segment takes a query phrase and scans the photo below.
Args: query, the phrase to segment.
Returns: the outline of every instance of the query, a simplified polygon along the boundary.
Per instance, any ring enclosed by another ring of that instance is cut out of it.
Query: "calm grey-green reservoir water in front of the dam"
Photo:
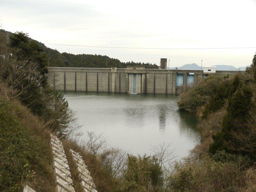
[[[133,155],[150,153],[150,144],[171,143],[178,159],[200,143],[194,114],[180,111],[177,95],[62,92],[76,112],[80,132],[103,133],[108,144]]]

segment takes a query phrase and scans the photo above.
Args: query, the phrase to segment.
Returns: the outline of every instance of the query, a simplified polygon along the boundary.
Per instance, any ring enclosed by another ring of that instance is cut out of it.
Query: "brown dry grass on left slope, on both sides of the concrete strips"
[[[1,89],[0,85],[0,98],[4,98],[4,93],[1,90],[3,89]],[[12,100],[10,106],[12,109],[10,115],[15,116],[18,119],[19,124],[28,129],[32,135],[36,136],[36,142],[40,143],[40,148],[38,148],[39,155],[35,157],[35,162],[32,162],[32,164],[34,163],[33,168],[30,170],[35,172],[33,177],[29,177],[17,184],[19,186],[28,184],[37,192],[55,191],[56,183],[52,166],[52,148],[49,135],[49,132],[52,131],[50,130],[50,127],[48,127],[48,123],[44,122],[42,118],[33,115],[32,112],[26,106],[23,106],[18,99]],[[83,188],[80,186],[81,179],[76,170],[76,163],[69,153],[70,148],[76,152],[81,152],[85,164],[88,165],[88,169],[91,171],[92,178],[99,192],[116,191],[115,180],[110,175],[108,169],[102,164],[102,161],[98,156],[85,150],[85,146],[82,144],[79,145],[78,141],[63,138],[62,142],[68,158],[74,188],[77,192],[82,192]]]

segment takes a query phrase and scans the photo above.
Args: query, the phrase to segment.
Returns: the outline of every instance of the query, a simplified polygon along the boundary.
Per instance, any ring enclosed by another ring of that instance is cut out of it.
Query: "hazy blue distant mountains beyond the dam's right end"
[[[250,67],[250,65],[240,68],[236,68],[232,65],[212,65],[211,67],[216,67],[217,71],[245,71],[246,67]],[[181,70],[201,70],[201,66],[198,66],[196,63],[186,64],[180,67],[170,67],[170,69],[176,68]]]

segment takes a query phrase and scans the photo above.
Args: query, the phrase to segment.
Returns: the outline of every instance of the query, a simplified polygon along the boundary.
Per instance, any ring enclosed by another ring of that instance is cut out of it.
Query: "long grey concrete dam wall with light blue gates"
[[[50,84],[58,91],[180,94],[210,74],[234,75],[241,71],[127,68],[49,68]]]

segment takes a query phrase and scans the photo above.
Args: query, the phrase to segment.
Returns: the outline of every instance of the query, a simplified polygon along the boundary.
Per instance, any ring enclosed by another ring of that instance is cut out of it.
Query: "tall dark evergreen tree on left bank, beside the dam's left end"
[[[23,32],[17,32],[13,36],[10,36],[9,47],[14,51],[14,57],[17,60],[17,65],[13,66],[20,68],[30,66],[29,73],[33,74],[33,78],[37,80],[36,84],[29,85],[26,92],[20,95],[20,99],[24,105],[31,110],[41,115],[43,113],[44,101],[41,88],[47,87],[47,59],[44,49],[40,47],[36,41],[28,38],[28,34]],[[23,79],[22,85],[29,84],[29,79]],[[22,91],[23,87],[17,87],[17,90]]]

